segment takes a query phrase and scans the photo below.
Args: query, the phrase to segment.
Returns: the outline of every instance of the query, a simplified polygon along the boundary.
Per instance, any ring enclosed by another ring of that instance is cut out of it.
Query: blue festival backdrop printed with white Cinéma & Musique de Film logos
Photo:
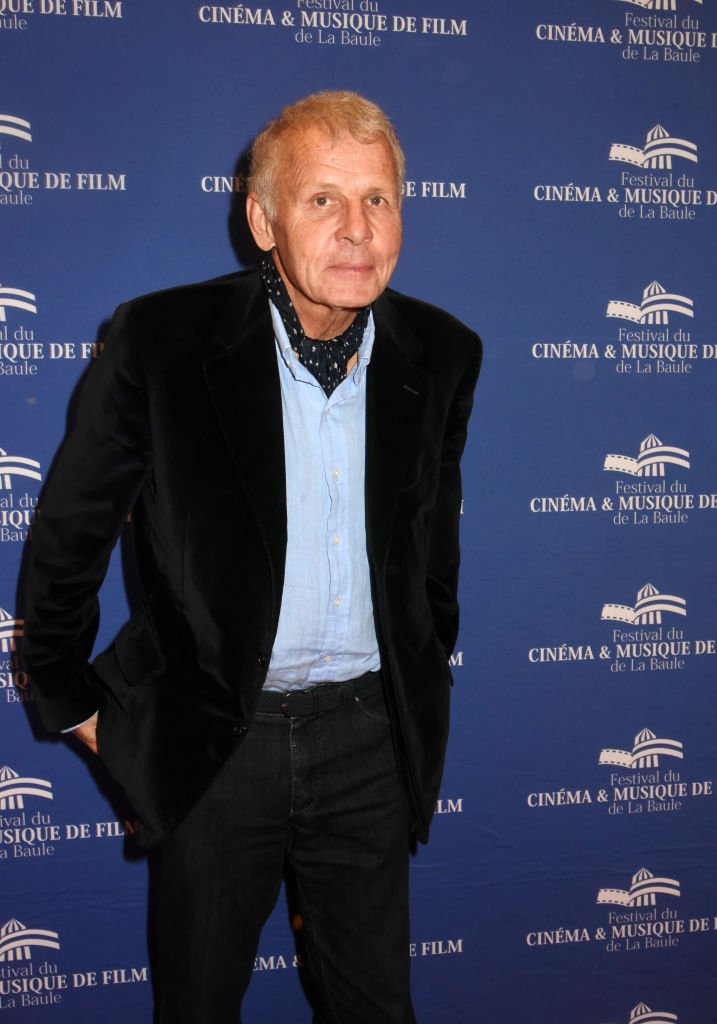
[[[151,1020],[131,808],[22,662],[67,418],[119,302],[252,265],[266,120],[350,88],[394,286],[486,342],[418,1018],[715,1020],[716,86],[717,0],[0,0],[0,1018]],[[98,650],[135,600],[127,537]],[[297,948],[282,897],[247,1021],[310,1020]]]

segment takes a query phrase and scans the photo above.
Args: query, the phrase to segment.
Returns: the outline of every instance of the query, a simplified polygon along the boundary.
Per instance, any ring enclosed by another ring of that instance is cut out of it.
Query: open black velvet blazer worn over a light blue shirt
[[[456,641],[459,460],[475,334],[390,290],[374,304],[366,525],[376,631],[415,834],[427,838]],[[119,308],[33,529],[25,660],[44,723],[100,709],[99,751],[157,842],[251,727],[286,554],[279,371],[258,274]],[[131,510],[141,607],[88,664]]]

